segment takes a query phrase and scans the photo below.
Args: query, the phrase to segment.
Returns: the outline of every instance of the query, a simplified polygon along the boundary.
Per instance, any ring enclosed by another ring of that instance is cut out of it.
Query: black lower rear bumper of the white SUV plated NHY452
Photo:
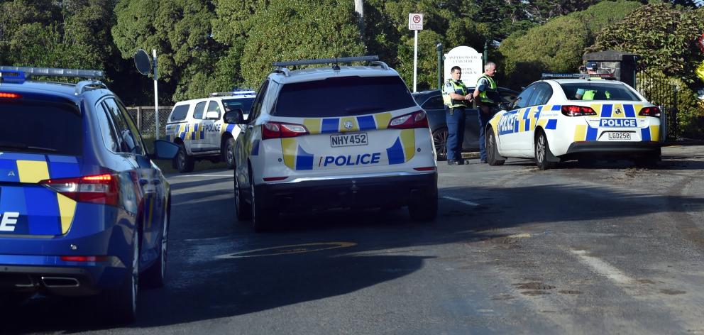
[[[256,201],[283,212],[338,207],[404,206],[412,197],[437,194],[437,172],[306,180],[256,185]]]

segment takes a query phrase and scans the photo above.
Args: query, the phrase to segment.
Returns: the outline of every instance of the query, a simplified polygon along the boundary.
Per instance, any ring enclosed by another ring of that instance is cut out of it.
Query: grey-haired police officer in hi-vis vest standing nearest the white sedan
[[[477,80],[477,87],[474,89],[474,97],[479,113],[479,158],[481,163],[486,163],[486,141],[484,138],[484,128],[497,109],[500,101],[499,91],[494,80],[496,64],[487,62],[484,65],[484,74]]]

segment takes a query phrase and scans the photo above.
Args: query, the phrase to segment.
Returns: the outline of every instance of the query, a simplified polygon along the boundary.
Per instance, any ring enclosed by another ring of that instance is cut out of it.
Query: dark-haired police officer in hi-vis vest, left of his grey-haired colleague
[[[462,143],[464,141],[464,113],[473,100],[460,78],[462,69],[453,66],[450,70],[451,79],[445,82],[442,99],[445,103],[445,119],[447,123],[447,164],[462,165]]]

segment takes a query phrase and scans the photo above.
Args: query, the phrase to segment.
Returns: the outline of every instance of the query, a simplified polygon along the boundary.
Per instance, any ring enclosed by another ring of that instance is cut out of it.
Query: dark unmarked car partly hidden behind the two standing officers
[[[474,92],[474,87],[468,87],[470,92]],[[512,102],[518,96],[518,92],[499,87],[501,102]],[[442,101],[442,94],[439,89],[431,91],[413,93],[413,98],[428,114],[430,130],[433,132],[433,142],[438,153],[439,160],[447,158],[447,125],[445,121],[445,106]],[[466,113],[463,151],[479,150],[479,121],[476,109],[468,109]]]

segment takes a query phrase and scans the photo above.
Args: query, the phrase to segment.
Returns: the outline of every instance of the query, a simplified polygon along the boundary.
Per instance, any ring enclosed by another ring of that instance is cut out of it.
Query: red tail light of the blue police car
[[[120,199],[120,186],[117,175],[90,175],[50,179],[43,180],[40,184],[77,202],[117,206]]]

